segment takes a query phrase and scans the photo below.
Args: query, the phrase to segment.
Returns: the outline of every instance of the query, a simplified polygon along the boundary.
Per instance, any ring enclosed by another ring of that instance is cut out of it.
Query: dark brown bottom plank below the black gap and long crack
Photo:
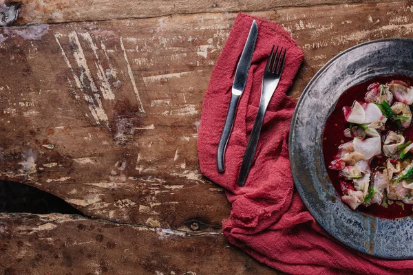
[[[282,274],[222,234],[56,214],[0,214],[0,233],[0,274]]]

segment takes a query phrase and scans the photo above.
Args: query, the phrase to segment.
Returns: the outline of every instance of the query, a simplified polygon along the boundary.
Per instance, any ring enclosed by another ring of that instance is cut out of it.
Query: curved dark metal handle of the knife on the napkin
[[[238,100],[240,100],[239,95],[231,94],[231,103],[229,104],[224,129],[222,130],[220,143],[218,144],[217,166],[220,173],[225,171],[225,148],[233,128],[235,114],[237,113]]]

